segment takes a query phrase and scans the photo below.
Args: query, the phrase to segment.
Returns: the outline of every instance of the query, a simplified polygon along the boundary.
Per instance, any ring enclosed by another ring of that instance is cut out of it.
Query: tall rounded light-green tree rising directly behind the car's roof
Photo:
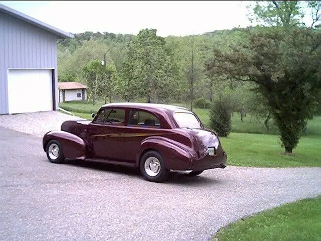
[[[134,38],[131,47],[133,80],[139,95],[148,103],[170,96],[176,70],[172,55],[165,48],[165,39],[157,36],[155,29],[144,29]]]

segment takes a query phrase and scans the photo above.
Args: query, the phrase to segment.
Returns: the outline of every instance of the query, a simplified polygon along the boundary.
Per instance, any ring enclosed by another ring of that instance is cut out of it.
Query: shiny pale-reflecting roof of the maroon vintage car
[[[155,103],[134,103],[134,102],[115,102],[104,104],[102,107],[127,107],[127,108],[142,108],[142,109],[163,109],[170,110],[172,112],[182,111],[192,113],[188,108],[170,105],[170,104],[155,104]]]

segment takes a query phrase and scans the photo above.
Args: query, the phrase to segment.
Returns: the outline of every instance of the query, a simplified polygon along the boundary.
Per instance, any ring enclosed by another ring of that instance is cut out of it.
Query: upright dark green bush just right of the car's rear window
[[[231,132],[231,106],[228,101],[213,101],[210,109],[210,127],[219,137],[227,137]]]

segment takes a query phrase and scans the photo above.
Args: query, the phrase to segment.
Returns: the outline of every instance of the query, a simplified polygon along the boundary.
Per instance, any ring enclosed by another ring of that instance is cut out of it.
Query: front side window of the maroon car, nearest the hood
[[[124,109],[103,109],[97,115],[95,123],[105,124],[123,124],[125,121],[125,110]]]

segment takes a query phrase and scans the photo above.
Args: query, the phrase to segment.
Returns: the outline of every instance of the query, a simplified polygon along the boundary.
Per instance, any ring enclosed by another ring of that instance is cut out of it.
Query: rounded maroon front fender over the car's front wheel
[[[64,131],[48,132],[43,137],[44,151],[46,151],[46,146],[51,140],[56,140],[60,143],[65,158],[85,159],[87,145],[80,137]]]

